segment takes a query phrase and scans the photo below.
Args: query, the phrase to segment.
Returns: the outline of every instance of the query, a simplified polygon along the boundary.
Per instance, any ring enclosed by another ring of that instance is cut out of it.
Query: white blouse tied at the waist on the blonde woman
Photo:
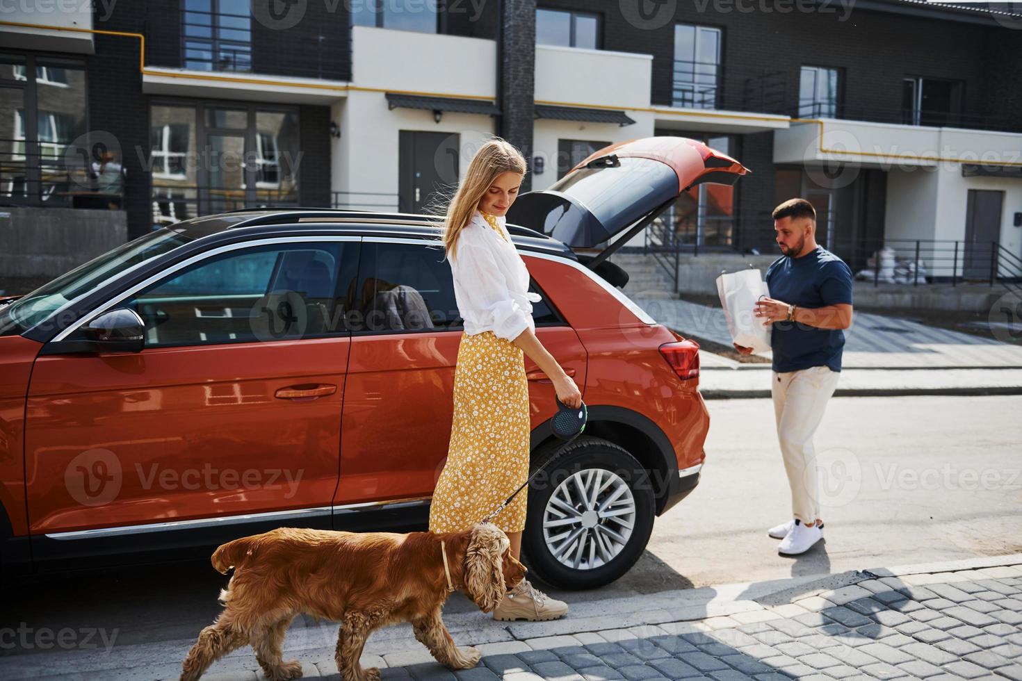
[[[454,297],[466,334],[493,331],[514,340],[525,329],[536,332],[532,303],[543,297],[528,291],[528,270],[511,242],[505,218],[498,215],[497,224],[503,238],[476,210],[458,235],[455,256],[449,258]]]

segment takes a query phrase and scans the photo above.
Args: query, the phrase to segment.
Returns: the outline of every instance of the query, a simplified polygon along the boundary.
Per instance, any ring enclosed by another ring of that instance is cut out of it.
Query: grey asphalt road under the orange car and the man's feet
[[[715,400],[702,482],[657,520],[633,571],[603,589],[549,593],[578,602],[1022,551],[1020,414],[1020,397],[832,400],[817,440],[826,542],[790,558],[765,535],[789,517],[772,404]],[[200,562],[5,585],[0,632],[94,629],[118,646],[193,639],[225,581]],[[459,594],[447,607],[472,609]],[[41,649],[0,637],[0,656]]]

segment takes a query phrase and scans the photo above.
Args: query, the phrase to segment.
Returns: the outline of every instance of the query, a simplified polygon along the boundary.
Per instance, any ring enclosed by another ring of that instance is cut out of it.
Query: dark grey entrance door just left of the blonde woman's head
[[[403,130],[399,139],[399,208],[442,212],[458,184],[458,133]]]

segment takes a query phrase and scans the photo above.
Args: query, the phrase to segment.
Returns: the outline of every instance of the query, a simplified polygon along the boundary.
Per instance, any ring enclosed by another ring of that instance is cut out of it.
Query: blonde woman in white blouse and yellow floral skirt
[[[525,159],[502,139],[483,144],[468,164],[444,223],[455,300],[465,321],[454,379],[454,419],[447,464],[429,510],[433,532],[465,530],[496,510],[528,478],[529,409],[524,354],[553,380],[558,398],[582,393],[536,337],[528,271],[504,215],[525,177]],[[528,488],[494,519],[511,553],[521,552]],[[496,620],[552,620],[568,606],[522,580],[494,611]]]

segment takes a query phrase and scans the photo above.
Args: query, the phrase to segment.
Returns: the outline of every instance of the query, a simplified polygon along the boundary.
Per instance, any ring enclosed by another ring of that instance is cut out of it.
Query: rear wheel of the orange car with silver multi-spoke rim
[[[648,471],[625,449],[598,438],[555,447],[546,460],[528,490],[522,535],[528,568],[562,588],[614,581],[639,560],[653,529]]]

